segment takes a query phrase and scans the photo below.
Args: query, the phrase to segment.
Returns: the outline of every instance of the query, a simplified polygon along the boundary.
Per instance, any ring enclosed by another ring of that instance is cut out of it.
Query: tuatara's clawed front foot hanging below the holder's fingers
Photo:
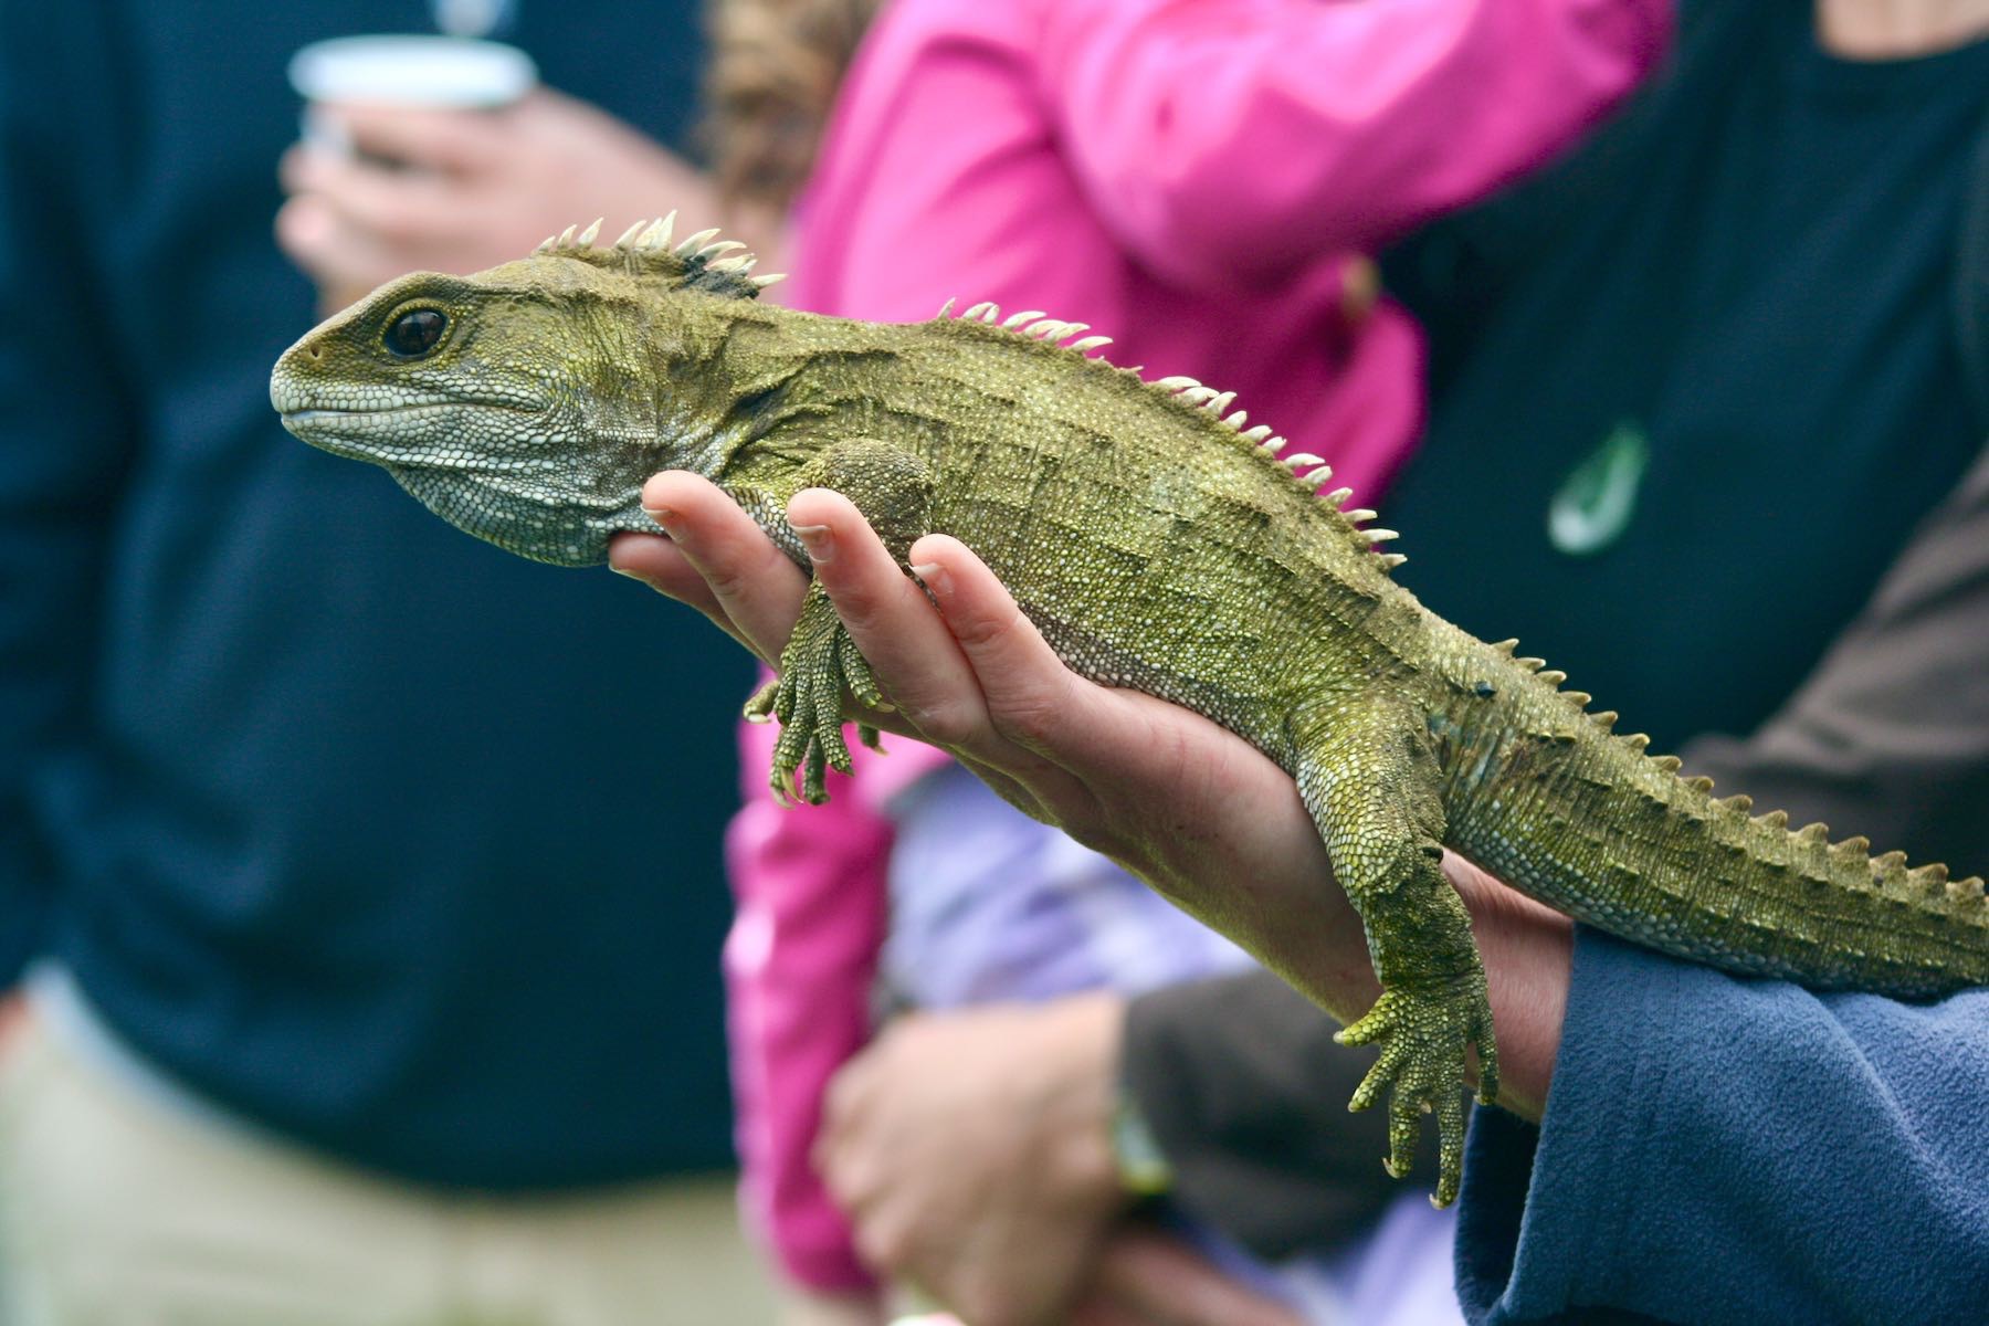
[[[808,586],[802,618],[780,652],[780,676],[746,702],[746,720],[780,720],[774,769],[768,785],[782,805],[794,805],[794,773],[802,771],[802,799],[821,805],[829,799],[827,771],[849,773],[849,744],[843,742],[843,696],[865,708],[883,708],[883,692],[869,662],[857,652],[835,616],[835,606],[819,582]],[[859,724],[857,738],[883,749],[877,730]]]

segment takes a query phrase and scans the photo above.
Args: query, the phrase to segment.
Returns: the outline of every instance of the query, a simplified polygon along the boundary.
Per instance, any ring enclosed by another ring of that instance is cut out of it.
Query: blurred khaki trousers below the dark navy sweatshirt
[[[438,1197],[0,1044],[0,1326],[752,1326],[730,1185]]]

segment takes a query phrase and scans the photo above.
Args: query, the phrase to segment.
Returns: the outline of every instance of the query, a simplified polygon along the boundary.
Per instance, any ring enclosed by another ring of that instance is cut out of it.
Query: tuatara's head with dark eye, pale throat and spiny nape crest
[[[696,356],[696,304],[768,278],[710,233],[672,249],[668,219],[605,249],[597,227],[473,276],[400,276],[326,318],[271,372],[282,425],[535,561],[591,567],[617,531],[654,533],[640,483],[690,463],[712,417],[684,396],[696,374],[658,368]]]

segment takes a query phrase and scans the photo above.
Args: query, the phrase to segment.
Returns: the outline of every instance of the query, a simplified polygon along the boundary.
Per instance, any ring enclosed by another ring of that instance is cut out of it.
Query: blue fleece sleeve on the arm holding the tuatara
[[[1458,1292],[1498,1324],[1979,1326],[1989,990],[1812,994],[1577,928],[1543,1123],[1472,1125]]]

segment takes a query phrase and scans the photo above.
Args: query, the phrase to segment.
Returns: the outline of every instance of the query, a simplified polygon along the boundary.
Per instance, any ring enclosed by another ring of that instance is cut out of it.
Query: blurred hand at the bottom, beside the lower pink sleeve
[[[1062,1320],[1128,1205],[1124,1002],[909,1014],[829,1083],[815,1169],[857,1252],[975,1326]]]

